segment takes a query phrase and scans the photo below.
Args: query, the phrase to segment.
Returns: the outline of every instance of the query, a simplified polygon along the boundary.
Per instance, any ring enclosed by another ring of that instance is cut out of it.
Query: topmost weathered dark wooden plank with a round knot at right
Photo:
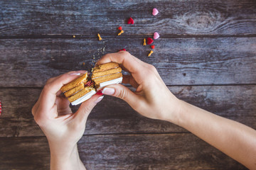
[[[256,2],[245,1],[1,1],[0,35],[255,35]],[[158,16],[152,16],[152,8]],[[135,24],[128,26],[132,16]],[[71,37],[71,36],[70,36]]]

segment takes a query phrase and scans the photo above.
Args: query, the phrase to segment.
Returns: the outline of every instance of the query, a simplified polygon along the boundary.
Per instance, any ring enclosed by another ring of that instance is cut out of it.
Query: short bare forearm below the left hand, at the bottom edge
[[[58,148],[50,145],[50,169],[51,170],[85,170],[85,166],[82,164],[78,147],[63,147]]]

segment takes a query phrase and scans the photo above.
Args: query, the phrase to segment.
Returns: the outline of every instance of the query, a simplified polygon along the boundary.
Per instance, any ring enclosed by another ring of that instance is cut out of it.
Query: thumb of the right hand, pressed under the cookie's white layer
[[[122,84],[109,85],[102,90],[102,94],[121,98],[126,101],[129,106],[132,106],[132,108],[135,108],[139,102],[139,96]]]

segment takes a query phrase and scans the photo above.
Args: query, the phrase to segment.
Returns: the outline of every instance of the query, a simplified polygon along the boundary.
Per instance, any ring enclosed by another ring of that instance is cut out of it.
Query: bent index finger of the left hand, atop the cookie
[[[85,73],[85,71],[83,71],[83,73]],[[45,108],[49,109],[52,107],[55,103],[56,95],[58,91],[60,91],[60,88],[64,84],[68,84],[70,81],[78,78],[80,74],[81,72],[69,72],[49,79],[40,96],[41,103],[45,106]]]

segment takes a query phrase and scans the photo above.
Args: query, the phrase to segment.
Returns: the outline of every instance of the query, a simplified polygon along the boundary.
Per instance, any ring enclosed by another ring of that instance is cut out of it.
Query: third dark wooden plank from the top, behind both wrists
[[[256,86],[171,86],[178,97],[256,129]],[[0,137],[43,136],[31,108],[41,89],[0,89]],[[75,112],[78,107],[73,107]],[[172,123],[144,118],[124,101],[105,96],[90,113],[85,135],[186,132]]]

